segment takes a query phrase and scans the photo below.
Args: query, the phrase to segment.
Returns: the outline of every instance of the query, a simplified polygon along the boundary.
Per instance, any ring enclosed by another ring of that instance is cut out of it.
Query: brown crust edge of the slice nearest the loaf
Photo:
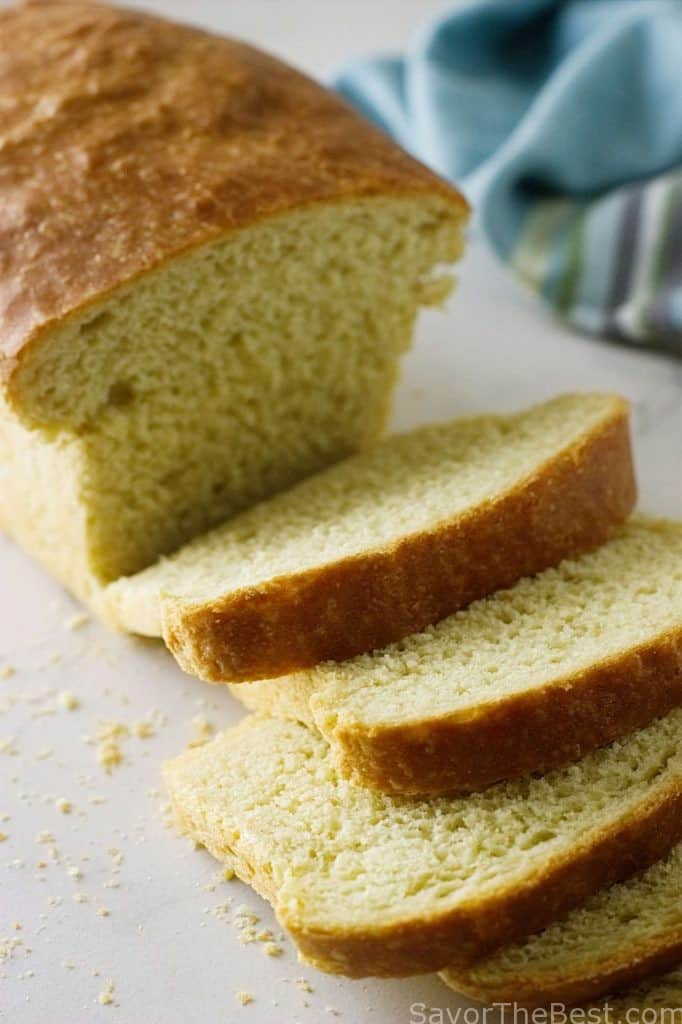
[[[608,540],[636,485],[628,409],[514,489],[384,550],[165,609],[164,639],[209,682],[275,678],[385,646]]]

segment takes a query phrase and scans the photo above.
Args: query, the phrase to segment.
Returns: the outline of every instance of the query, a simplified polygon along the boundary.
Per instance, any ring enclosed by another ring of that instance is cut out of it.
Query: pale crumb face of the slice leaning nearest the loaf
[[[164,610],[177,623],[225,595],[390,549],[474,514],[623,411],[611,395],[561,395],[513,416],[389,437],[113,584],[103,599],[119,626],[159,636]]]

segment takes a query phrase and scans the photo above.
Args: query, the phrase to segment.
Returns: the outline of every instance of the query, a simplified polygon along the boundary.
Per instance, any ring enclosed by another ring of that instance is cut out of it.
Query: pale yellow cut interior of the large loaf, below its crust
[[[27,476],[40,447],[68,478],[63,528],[82,557],[70,568],[39,550],[73,516],[58,488],[32,524],[0,493],[0,521],[91,596],[361,449],[386,421],[419,306],[449,290],[433,271],[459,255],[460,218],[437,197],[316,205],[204,246],[41,337],[7,401]]]

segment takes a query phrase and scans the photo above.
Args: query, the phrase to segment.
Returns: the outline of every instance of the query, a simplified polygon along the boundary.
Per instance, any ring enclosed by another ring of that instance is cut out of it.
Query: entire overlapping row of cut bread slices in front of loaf
[[[682,963],[682,523],[627,518],[624,436],[425,428],[112,587],[255,712],[166,781],[308,963],[526,1007]]]

